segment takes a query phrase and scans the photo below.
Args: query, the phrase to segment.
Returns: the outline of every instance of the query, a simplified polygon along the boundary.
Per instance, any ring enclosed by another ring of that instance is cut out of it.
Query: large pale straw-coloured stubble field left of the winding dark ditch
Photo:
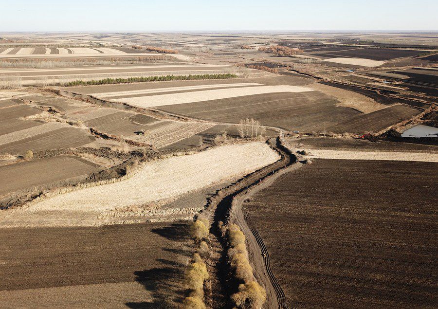
[[[116,207],[144,206],[240,178],[278,154],[264,143],[225,145],[193,155],[147,163],[127,180],[89,187],[0,213],[0,226],[100,225],[98,217]]]

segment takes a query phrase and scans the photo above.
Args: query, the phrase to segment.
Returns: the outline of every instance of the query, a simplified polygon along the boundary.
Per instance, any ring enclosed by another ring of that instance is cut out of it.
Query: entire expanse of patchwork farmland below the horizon
[[[436,307],[437,50],[1,33],[0,307]]]

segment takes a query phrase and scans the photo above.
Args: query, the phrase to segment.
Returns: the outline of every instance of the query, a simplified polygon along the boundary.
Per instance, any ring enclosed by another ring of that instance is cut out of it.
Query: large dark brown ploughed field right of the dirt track
[[[434,307],[438,164],[316,160],[246,201],[292,307]]]

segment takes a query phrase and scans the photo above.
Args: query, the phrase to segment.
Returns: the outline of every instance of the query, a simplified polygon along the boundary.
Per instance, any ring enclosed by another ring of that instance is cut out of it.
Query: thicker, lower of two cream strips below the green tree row
[[[234,89],[215,89],[205,91],[193,91],[184,93],[159,94],[147,97],[121,98],[118,102],[128,103],[133,106],[147,108],[152,106],[175,105],[183,103],[201,102],[209,100],[218,100],[226,98],[234,98],[246,95],[255,95],[262,93],[275,92],[305,92],[313,91],[307,87],[299,86],[255,86]]]

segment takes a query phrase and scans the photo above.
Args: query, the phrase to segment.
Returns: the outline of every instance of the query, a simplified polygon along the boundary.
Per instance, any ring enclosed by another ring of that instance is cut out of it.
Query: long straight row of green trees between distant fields
[[[227,79],[236,78],[236,74],[189,74],[189,75],[163,75],[163,76],[140,76],[128,78],[105,78],[99,80],[75,80],[67,82],[64,86],[89,86],[89,85],[106,85],[106,84],[127,84],[127,83],[143,83],[143,82],[161,82],[169,80],[196,80],[196,79]]]

